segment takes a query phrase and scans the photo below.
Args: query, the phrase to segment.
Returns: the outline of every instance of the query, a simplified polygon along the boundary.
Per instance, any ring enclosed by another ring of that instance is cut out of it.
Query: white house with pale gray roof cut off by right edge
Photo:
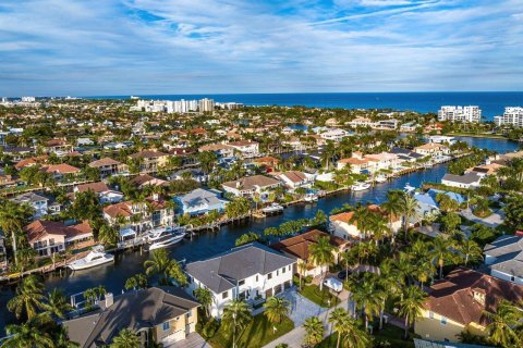
[[[523,285],[523,237],[500,236],[485,246],[484,254],[491,276]]]

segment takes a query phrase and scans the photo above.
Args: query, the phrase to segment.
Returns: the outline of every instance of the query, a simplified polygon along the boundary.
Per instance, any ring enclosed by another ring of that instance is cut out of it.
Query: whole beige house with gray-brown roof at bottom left
[[[80,348],[107,347],[123,328],[142,348],[177,345],[196,331],[199,303],[174,286],[155,286],[113,297],[106,294],[95,311],[66,320],[69,338]]]

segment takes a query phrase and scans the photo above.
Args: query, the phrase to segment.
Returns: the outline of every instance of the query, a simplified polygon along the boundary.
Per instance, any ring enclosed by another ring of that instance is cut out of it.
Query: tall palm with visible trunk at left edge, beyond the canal
[[[2,209],[0,209],[0,227],[4,233],[11,235],[15,265],[19,264],[16,246],[20,232],[31,216],[33,216],[33,209],[28,204],[17,204],[10,200],[2,202]]]

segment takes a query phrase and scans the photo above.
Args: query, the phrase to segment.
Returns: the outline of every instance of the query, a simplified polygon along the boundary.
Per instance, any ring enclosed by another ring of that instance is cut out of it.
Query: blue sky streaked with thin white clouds
[[[0,96],[523,90],[522,0],[3,0]]]

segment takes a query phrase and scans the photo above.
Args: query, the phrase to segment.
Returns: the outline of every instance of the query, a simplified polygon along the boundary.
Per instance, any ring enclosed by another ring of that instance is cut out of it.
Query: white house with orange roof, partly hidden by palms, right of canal
[[[392,233],[398,233],[402,226],[402,221],[399,216],[389,216],[382,211],[379,206],[370,204],[367,208],[372,213],[381,214],[387,219],[387,225]],[[357,227],[357,222],[353,219],[354,212],[343,212],[329,216],[330,226],[329,231],[332,235],[342,239],[365,239],[368,236],[364,236]]]

